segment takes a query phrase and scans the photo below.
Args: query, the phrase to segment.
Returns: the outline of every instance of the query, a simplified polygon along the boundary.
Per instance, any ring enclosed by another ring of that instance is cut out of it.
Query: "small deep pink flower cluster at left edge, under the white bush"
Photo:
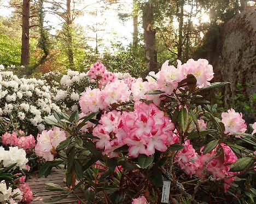
[[[6,146],[18,146],[19,149],[23,148],[25,151],[34,148],[36,145],[33,135],[25,136],[25,133],[22,130],[19,131],[19,134],[16,132],[4,133],[2,136],[2,143]]]

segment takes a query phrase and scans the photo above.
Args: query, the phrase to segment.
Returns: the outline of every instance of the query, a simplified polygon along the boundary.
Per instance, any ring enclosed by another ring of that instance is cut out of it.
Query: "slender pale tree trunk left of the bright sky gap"
[[[73,38],[72,38],[72,19],[71,19],[71,0],[67,0],[67,43],[68,43],[68,62],[69,68],[74,68],[74,52],[73,52]]]

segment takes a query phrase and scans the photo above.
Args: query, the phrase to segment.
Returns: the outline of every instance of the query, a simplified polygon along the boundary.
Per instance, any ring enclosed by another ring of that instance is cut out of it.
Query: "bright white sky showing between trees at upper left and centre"
[[[1,2],[1,1],[0,1]],[[9,16],[13,9],[8,8],[8,0],[3,0],[2,4],[0,4],[0,15]],[[121,10],[122,13],[131,13],[132,12],[132,0],[121,0],[120,4],[113,4],[110,6],[111,9],[103,10],[102,16],[92,16],[90,13],[100,14],[101,5],[96,3],[97,0],[86,0],[86,3],[80,4],[77,9],[84,8],[86,5],[89,5],[84,9],[84,15],[75,19],[75,23],[78,23],[83,27],[84,32],[88,35],[89,41],[88,44],[92,47],[96,46],[96,41],[93,38],[96,37],[96,33],[91,31],[90,26],[97,27],[100,30],[98,31],[98,38],[102,39],[102,44],[111,50],[112,42],[121,42],[124,46],[127,46],[132,41],[132,18],[129,17],[125,22],[122,22],[118,13],[115,9],[118,8],[119,5],[122,5]],[[47,7],[48,5],[46,5]],[[120,8],[119,8],[120,10]],[[51,33],[54,34],[57,29],[61,29],[61,21],[55,15],[46,13],[45,15],[45,23],[47,26],[53,27],[51,29]],[[99,47],[100,51],[104,50],[104,47]]]

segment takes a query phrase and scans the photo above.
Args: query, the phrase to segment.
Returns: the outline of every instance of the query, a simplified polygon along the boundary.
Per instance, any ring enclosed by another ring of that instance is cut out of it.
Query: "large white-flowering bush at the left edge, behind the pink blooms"
[[[53,103],[50,89],[44,80],[19,78],[12,71],[0,71],[0,116],[12,115],[21,125],[44,130],[45,117],[54,110],[60,111]]]

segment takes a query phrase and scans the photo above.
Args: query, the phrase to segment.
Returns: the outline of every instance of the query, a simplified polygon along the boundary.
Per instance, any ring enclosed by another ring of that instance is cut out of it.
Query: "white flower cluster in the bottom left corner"
[[[2,194],[0,193],[0,203],[7,203],[6,201],[9,201],[8,203],[15,204],[22,200],[22,191],[19,188],[14,190],[11,187],[7,188],[4,181],[0,182],[0,191],[2,192]]]

